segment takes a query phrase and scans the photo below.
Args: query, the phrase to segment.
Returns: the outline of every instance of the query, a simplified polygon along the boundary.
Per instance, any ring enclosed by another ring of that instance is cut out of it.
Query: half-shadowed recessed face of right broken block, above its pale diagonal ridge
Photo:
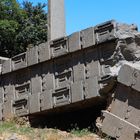
[[[117,84],[116,90],[114,92],[113,100],[111,100],[112,101],[111,105],[107,110],[113,116],[116,116],[120,120],[122,119],[126,123],[133,125],[134,127],[139,127],[140,124],[139,100],[140,100],[139,91],[133,90],[133,88],[129,88],[128,86],[119,83]],[[123,131],[128,130],[124,127]],[[132,134],[134,135],[135,133]],[[122,136],[123,134],[120,135],[120,137]]]

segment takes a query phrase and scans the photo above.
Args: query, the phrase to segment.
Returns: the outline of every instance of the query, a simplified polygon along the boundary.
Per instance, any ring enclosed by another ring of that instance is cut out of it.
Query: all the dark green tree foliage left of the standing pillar
[[[0,55],[12,57],[26,51],[28,45],[47,41],[45,4],[33,6],[25,1],[0,1]]]

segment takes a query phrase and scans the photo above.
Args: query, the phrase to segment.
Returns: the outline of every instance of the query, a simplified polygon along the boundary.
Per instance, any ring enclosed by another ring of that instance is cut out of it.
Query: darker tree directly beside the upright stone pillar
[[[47,13],[43,10],[45,4],[38,3],[33,6],[31,2],[23,3],[26,17],[21,23],[17,42],[26,50],[29,44],[37,45],[47,41]]]

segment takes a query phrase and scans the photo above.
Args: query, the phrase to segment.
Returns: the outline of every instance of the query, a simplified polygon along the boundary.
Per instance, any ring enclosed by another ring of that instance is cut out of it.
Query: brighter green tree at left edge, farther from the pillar
[[[0,55],[11,56],[19,23],[15,20],[20,14],[16,0],[0,1]],[[19,16],[20,17],[20,16]]]

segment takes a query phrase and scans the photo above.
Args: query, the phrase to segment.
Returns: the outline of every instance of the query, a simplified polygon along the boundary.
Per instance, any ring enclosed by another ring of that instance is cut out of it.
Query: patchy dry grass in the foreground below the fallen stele
[[[101,140],[88,130],[73,130],[68,133],[57,129],[35,129],[29,126],[26,119],[14,118],[0,125],[0,140]]]

